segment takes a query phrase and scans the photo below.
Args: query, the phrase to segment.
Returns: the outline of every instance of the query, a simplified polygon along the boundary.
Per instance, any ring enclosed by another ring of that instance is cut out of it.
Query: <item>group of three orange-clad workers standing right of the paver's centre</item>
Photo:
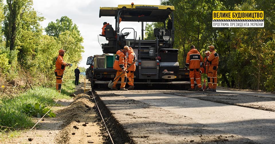
[[[215,51],[214,45],[208,46],[209,51],[205,52],[203,60],[201,54],[194,45],[190,46],[190,51],[187,53],[185,69],[189,67],[189,77],[191,88],[188,91],[196,91],[195,81],[198,86],[198,91],[203,91],[201,85],[201,73],[207,74],[208,88],[205,91],[216,92],[217,88],[217,69],[219,64],[219,55]],[[210,53],[211,52],[211,53]]]

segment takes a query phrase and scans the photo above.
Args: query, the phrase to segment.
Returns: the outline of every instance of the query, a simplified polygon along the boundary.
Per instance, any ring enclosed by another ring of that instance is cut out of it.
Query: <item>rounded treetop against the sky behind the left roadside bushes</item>
[[[80,31],[76,24],[72,23],[72,19],[67,16],[63,16],[60,19],[56,19],[56,23],[50,22],[48,26],[45,28],[47,35],[59,37],[62,32],[65,31],[76,31],[78,35],[80,35]]]

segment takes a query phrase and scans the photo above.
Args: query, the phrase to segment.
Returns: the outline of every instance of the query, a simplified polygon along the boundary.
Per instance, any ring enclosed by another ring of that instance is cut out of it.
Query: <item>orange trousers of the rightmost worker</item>
[[[209,89],[216,89],[217,88],[217,69],[218,66],[210,65],[209,71],[207,74],[207,84]]]

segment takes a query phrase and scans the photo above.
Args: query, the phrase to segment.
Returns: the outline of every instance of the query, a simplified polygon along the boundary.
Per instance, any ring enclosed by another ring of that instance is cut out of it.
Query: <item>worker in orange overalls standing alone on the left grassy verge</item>
[[[70,63],[65,63],[63,56],[65,53],[65,50],[60,49],[58,51],[59,55],[56,57],[55,61],[55,67],[54,74],[56,76],[56,90],[60,93],[61,91],[61,85],[63,80],[63,74],[65,71],[66,66],[70,65]]]

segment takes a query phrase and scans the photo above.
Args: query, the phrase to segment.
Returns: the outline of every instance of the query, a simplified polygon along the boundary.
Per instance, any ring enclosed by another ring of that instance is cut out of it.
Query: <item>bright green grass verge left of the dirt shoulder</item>
[[[12,127],[15,129],[26,129],[34,125],[32,118],[21,110],[25,105],[40,103],[45,106],[53,106],[57,99],[71,99],[69,95],[74,92],[74,85],[68,81],[62,85],[59,94],[54,88],[35,87],[25,93],[9,99],[0,99],[0,126]],[[0,127],[0,130],[3,128]],[[11,129],[12,130],[12,129]],[[1,133],[1,131],[0,131]]]

